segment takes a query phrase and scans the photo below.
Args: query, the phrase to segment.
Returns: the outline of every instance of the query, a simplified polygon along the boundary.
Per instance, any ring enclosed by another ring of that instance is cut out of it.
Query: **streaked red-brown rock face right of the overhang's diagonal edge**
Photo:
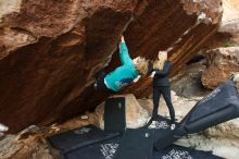
[[[141,1],[136,8],[135,21],[125,33],[133,58],[143,56],[155,59],[159,50],[168,50],[169,60],[174,63],[172,76],[203,48],[217,30],[217,22],[222,16],[221,1],[183,2]],[[202,11],[212,19],[212,24],[198,24],[197,14]],[[114,56],[112,65],[117,61],[117,54]],[[141,80],[137,85],[127,87],[123,94],[135,93],[138,98],[146,97],[152,93],[151,83],[149,77]]]

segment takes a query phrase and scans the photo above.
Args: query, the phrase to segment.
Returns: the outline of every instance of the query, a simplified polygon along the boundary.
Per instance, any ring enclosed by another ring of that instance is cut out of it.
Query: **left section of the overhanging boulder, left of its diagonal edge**
[[[116,49],[135,4],[1,1],[0,121],[10,132],[66,119],[91,106],[85,99],[93,91],[93,77]]]

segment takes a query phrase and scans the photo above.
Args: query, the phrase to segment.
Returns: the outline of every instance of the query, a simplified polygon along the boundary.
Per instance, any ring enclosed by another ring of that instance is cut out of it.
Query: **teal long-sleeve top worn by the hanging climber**
[[[120,45],[120,59],[122,65],[109,73],[104,78],[106,86],[114,91],[120,91],[139,75],[139,72],[136,70],[135,64],[128,54],[128,49],[125,42],[121,42]]]

